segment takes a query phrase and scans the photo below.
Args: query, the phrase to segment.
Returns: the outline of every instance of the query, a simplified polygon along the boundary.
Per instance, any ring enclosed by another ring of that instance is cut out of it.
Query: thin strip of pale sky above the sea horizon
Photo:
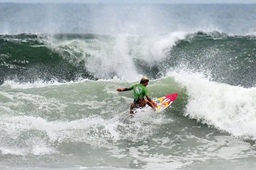
[[[256,0],[0,0],[0,3],[256,3]]]

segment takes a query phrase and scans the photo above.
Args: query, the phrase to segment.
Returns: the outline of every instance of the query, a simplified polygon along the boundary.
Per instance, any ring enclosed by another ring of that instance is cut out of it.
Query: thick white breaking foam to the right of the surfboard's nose
[[[256,139],[256,88],[212,82],[201,73],[170,73],[186,88],[186,116],[213,125],[236,137]]]

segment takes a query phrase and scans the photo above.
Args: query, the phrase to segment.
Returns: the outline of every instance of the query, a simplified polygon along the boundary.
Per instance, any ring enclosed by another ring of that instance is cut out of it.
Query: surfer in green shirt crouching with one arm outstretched
[[[150,82],[150,80],[147,77],[143,77],[141,78],[141,82],[139,84],[134,84],[130,88],[117,88],[117,91],[119,92],[133,90],[134,101],[130,105],[130,114],[134,114],[134,108],[145,107],[146,104],[150,105],[150,107],[156,110],[155,107],[157,107],[157,104],[154,103],[154,101],[150,99],[150,96],[148,95],[146,88],[148,82]],[[144,99],[144,97],[147,99]]]

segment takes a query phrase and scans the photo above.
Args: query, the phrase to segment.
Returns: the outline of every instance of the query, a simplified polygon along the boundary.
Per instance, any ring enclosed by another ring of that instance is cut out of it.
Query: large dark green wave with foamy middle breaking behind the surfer
[[[134,81],[173,69],[205,73],[216,82],[255,86],[256,37],[223,33],[133,35],[1,35],[1,82],[79,79]]]

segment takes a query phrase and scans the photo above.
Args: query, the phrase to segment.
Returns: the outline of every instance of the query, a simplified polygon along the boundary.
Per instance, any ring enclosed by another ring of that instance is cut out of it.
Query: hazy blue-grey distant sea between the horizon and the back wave
[[[159,35],[217,30],[255,35],[255,5],[1,3],[2,34]],[[246,11],[246,12],[244,12]]]

